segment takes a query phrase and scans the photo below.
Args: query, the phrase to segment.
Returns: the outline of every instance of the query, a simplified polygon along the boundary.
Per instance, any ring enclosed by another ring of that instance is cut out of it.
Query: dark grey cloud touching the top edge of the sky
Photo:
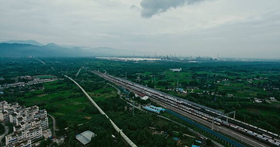
[[[153,15],[166,12],[170,8],[177,8],[184,4],[192,5],[201,1],[204,0],[142,0],[140,2],[141,16],[150,18]]]

